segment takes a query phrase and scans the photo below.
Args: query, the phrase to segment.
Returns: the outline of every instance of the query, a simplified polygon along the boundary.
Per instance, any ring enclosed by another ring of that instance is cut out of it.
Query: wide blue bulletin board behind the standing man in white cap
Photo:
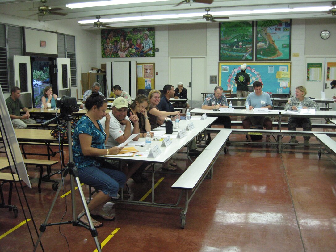
[[[218,83],[224,90],[237,91],[235,77],[244,63],[247,64],[245,72],[250,76],[250,85],[260,81],[264,92],[277,93],[277,89],[282,88],[283,94],[290,93],[291,62],[219,62]]]

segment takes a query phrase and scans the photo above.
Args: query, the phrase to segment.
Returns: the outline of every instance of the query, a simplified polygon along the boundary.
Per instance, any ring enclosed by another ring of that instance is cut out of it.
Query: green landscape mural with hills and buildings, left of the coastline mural
[[[253,22],[225,22],[219,28],[219,61],[253,60]]]

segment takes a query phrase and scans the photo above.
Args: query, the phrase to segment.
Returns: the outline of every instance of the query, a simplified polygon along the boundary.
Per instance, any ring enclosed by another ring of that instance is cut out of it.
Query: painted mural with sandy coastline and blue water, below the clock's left
[[[290,20],[257,22],[256,60],[290,60]]]

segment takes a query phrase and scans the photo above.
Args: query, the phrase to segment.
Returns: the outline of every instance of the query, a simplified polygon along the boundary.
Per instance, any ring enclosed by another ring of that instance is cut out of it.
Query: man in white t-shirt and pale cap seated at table
[[[127,100],[123,97],[118,97],[113,101],[113,107],[110,114],[110,129],[109,129],[109,138],[105,146],[111,148],[118,146],[120,143],[125,142],[132,134],[140,133],[139,129],[139,118],[137,115],[127,116],[128,103]],[[105,127],[106,117],[100,120],[102,127]],[[131,121],[134,123],[132,125]],[[104,124],[104,125],[103,125]],[[139,135],[133,138],[133,141],[137,141]],[[116,164],[113,160],[108,160],[109,163]],[[126,181],[133,175],[133,173],[139,169],[143,163],[141,162],[127,162],[123,164],[123,172],[126,174]],[[146,167],[145,167],[146,168]],[[137,183],[144,183],[146,177],[139,174],[139,177],[132,177],[133,180]]]

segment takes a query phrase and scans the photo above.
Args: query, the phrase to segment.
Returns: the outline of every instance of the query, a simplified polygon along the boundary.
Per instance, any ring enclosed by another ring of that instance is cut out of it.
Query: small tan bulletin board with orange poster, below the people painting
[[[136,63],[137,90],[155,89],[155,63]]]

